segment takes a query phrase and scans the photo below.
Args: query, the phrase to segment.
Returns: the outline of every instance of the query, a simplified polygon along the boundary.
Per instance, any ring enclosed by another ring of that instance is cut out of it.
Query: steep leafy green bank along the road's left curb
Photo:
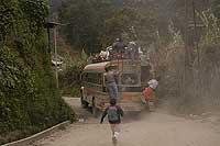
[[[0,1],[0,144],[73,120],[46,53],[47,14],[46,0]]]

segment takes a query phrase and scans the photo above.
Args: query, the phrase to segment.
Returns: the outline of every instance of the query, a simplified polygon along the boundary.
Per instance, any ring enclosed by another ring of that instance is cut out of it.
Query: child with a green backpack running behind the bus
[[[101,124],[103,122],[103,119],[108,114],[109,124],[111,126],[112,131],[112,141],[117,143],[117,139],[120,134],[120,123],[121,123],[121,116],[123,116],[123,110],[117,105],[116,99],[110,99],[110,105],[105,110],[102,117],[101,117]]]

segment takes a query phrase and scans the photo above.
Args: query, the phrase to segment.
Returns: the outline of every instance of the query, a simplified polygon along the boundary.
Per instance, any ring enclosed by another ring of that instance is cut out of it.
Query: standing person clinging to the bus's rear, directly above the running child
[[[118,99],[119,98],[118,87],[117,87],[118,74],[110,70],[109,68],[105,68],[105,69],[106,69],[105,79],[106,79],[109,97],[113,99]]]

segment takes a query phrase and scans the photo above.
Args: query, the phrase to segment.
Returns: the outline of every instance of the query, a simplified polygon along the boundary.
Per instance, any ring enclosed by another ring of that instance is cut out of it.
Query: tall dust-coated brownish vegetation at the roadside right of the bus
[[[220,2],[218,0],[158,0],[160,20],[166,27],[155,54],[161,71],[160,97],[172,112],[218,113],[220,109]],[[169,36],[169,37],[166,37]],[[166,45],[167,44],[167,45]]]

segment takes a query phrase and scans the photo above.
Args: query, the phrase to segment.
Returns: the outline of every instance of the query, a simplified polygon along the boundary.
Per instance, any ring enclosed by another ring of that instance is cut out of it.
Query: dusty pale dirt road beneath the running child
[[[34,146],[112,146],[107,122],[99,124],[98,119],[80,109],[77,99],[67,102],[86,121],[72,124]],[[220,130],[218,125],[163,112],[142,113],[123,120],[118,146],[220,146]]]

